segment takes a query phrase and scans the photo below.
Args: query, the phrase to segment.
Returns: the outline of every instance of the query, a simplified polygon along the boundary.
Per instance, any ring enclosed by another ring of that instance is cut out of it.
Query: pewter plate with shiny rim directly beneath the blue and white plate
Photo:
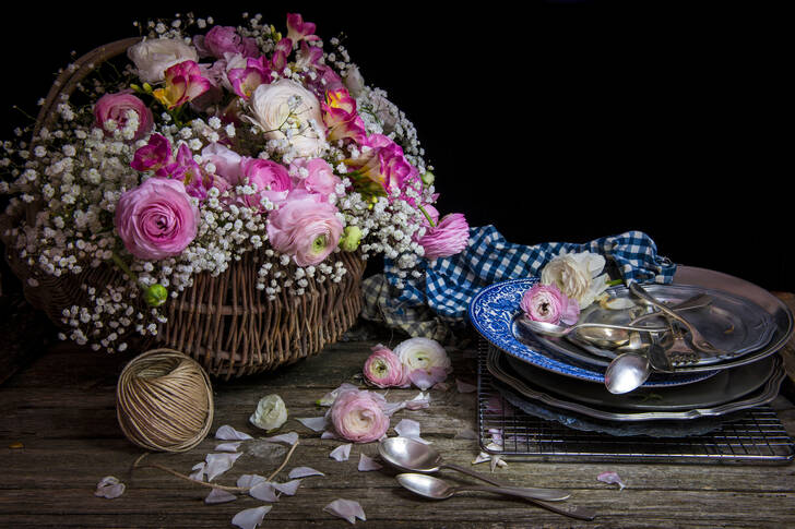
[[[566,397],[556,396],[551,392],[539,389],[537,386],[533,386],[531,383],[508,373],[498,361],[501,356],[500,351],[491,348],[486,363],[488,371],[495,378],[519,393],[523,398],[539,401],[553,408],[581,413],[594,419],[618,422],[693,420],[703,417],[720,417],[754,408],[772,401],[779,395],[781,383],[785,376],[781,358],[775,356],[772,357],[774,363],[773,372],[767,382],[750,394],[737,399],[715,406],[693,407],[685,410],[629,411],[616,410],[604,406],[585,405]],[[739,373],[738,376],[743,376],[743,371],[737,370],[737,373]]]

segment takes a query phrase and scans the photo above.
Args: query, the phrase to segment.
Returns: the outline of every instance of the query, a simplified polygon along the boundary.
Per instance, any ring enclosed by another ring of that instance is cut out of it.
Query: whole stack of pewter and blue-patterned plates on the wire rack
[[[615,351],[576,338],[535,335],[517,325],[520,300],[534,281],[495,284],[483,289],[470,305],[473,325],[491,346],[489,372],[509,400],[525,411],[543,409],[603,425],[633,424],[631,431],[643,433],[644,425],[656,431],[652,426],[665,421],[714,422],[715,418],[731,418],[735,412],[768,404],[785,377],[782,361],[774,353],[793,334],[788,308],[743,279],[679,266],[672,285],[648,286],[646,290],[671,304],[708,294],[708,305],[681,314],[725,354],[701,354],[695,363],[678,366],[674,373],[653,373],[631,393],[610,394],[604,385],[604,373]],[[613,298],[633,299],[626,287],[608,292]],[[621,312],[595,305],[583,311],[581,322],[606,317],[615,321]],[[655,323],[664,325],[665,321]]]

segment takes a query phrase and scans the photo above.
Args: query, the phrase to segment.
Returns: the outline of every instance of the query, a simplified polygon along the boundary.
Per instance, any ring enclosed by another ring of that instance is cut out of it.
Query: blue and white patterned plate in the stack
[[[578,362],[544,347],[539,341],[517,337],[514,320],[520,314],[519,303],[524,292],[537,282],[537,278],[513,279],[496,282],[480,290],[470,303],[470,321],[475,329],[491,345],[537,368],[589,382],[604,384],[604,368],[589,362]],[[654,373],[644,387],[675,386],[702,381],[716,371],[684,373],[677,375]]]

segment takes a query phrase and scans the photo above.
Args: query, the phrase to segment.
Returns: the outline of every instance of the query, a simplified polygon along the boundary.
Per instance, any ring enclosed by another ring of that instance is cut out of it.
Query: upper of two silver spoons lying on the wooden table
[[[477,478],[486,483],[491,483],[496,486],[503,486],[499,481],[470,470],[458,465],[444,462],[441,454],[439,454],[432,447],[414,441],[408,437],[387,437],[378,444],[378,454],[381,459],[401,470],[407,470],[410,472],[423,472],[431,473],[438,472],[442,468],[449,468],[451,470],[458,470],[459,472]],[[515,489],[515,488],[514,488]],[[534,489],[534,488],[522,488],[527,494],[536,500],[546,500],[548,502],[559,502],[567,500],[571,496],[567,491],[556,489]],[[527,497],[527,496],[525,496]]]

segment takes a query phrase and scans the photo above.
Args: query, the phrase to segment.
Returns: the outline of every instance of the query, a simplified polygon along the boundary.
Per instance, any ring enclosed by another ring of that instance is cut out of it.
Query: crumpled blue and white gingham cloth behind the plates
[[[467,306],[478,290],[498,281],[536,276],[561,251],[601,253],[627,284],[668,284],[676,272],[676,265],[657,255],[656,244],[642,231],[584,244],[547,242],[526,247],[506,241],[494,226],[484,226],[470,228],[470,245],[463,252],[435,262],[422,260],[418,277],[401,279],[397,268],[387,260],[383,274],[364,281],[363,316],[412,336],[441,340],[450,332],[450,324],[466,321]]]

